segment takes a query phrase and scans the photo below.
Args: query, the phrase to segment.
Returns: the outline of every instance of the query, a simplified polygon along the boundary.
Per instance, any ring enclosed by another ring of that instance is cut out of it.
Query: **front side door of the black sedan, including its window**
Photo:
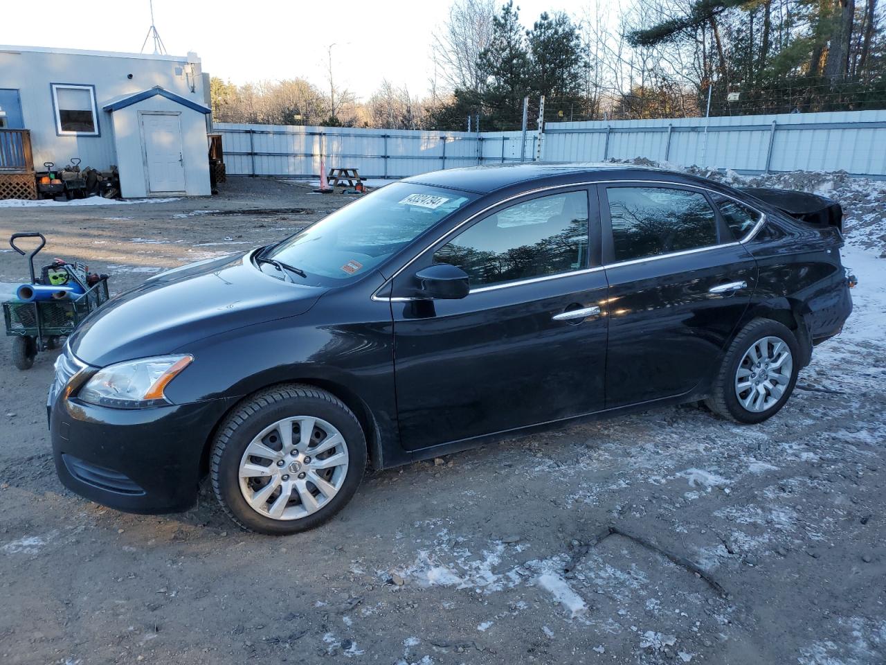
[[[588,189],[495,209],[395,278],[400,437],[416,450],[603,408],[607,284]],[[590,223],[589,223],[590,217]],[[588,238],[593,241],[588,246]],[[402,301],[416,270],[470,275],[462,300]]]

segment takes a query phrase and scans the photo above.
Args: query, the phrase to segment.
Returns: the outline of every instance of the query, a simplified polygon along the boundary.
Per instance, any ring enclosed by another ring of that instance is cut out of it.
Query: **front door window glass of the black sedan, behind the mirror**
[[[587,192],[517,203],[473,224],[434,252],[485,286],[587,268]]]

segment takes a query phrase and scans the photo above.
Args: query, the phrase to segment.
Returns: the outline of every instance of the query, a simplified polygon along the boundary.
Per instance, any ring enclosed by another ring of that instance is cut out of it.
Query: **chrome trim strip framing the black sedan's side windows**
[[[644,262],[648,262],[648,261],[657,261],[659,259],[666,259],[666,258],[670,258],[672,256],[683,256],[686,254],[697,254],[699,252],[710,251],[711,249],[719,249],[720,247],[731,247],[731,246],[744,245],[745,243],[750,242],[750,240],[754,239],[754,237],[758,234],[760,229],[763,228],[764,223],[766,223],[766,213],[763,212],[762,210],[759,210],[757,207],[750,205],[746,201],[736,199],[734,196],[732,196],[730,194],[725,194],[723,192],[717,192],[716,190],[712,190],[710,187],[703,187],[702,185],[698,185],[698,184],[675,183],[671,180],[592,180],[592,181],[587,181],[587,182],[583,182],[583,183],[553,184],[553,185],[549,185],[548,187],[538,187],[534,190],[528,190],[526,192],[520,192],[519,194],[514,194],[513,196],[509,196],[507,199],[502,199],[500,201],[496,201],[491,206],[487,206],[487,207],[483,208],[482,210],[478,210],[478,212],[474,213],[473,215],[470,215],[470,217],[463,220],[461,223],[458,223],[457,225],[455,225],[452,229],[450,229],[449,231],[444,233],[438,239],[434,240],[429,245],[424,246],[424,248],[421,251],[417,252],[416,255],[413,256],[411,259],[409,259],[408,262],[404,263],[403,266],[400,268],[400,270],[397,270],[390,278],[385,279],[384,284],[382,284],[382,286],[379,286],[372,293],[372,295],[370,296],[370,300],[377,301],[377,302],[412,302],[412,301],[425,300],[424,298],[419,298],[416,296],[389,296],[389,297],[385,297],[385,296],[378,295],[378,292],[381,291],[382,289],[384,289],[385,286],[388,286],[395,278],[397,278],[397,276],[400,275],[401,272],[403,272],[403,270],[406,270],[410,265],[412,265],[413,262],[416,262],[418,260],[418,258],[420,256],[422,256],[425,252],[427,252],[429,249],[431,249],[432,246],[435,246],[441,240],[447,239],[448,236],[454,234],[455,231],[458,231],[459,229],[461,229],[462,226],[474,221],[479,215],[486,214],[487,212],[492,210],[494,207],[501,206],[501,204],[503,204],[503,203],[507,203],[509,201],[519,199],[521,197],[528,196],[530,194],[536,194],[539,192],[552,192],[555,190],[566,189],[567,187],[588,187],[590,185],[595,185],[595,184],[649,184],[650,186],[657,186],[657,185],[664,184],[664,185],[672,185],[674,187],[688,187],[689,189],[695,189],[695,190],[699,190],[702,192],[711,192],[711,194],[718,194],[719,196],[724,196],[727,199],[734,200],[736,203],[740,203],[744,207],[749,207],[751,210],[758,213],[758,215],[760,215],[760,218],[758,219],[757,223],[754,224],[754,227],[750,231],[748,231],[747,234],[745,234],[744,238],[742,238],[740,240],[733,240],[732,242],[719,243],[718,245],[696,247],[695,249],[684,249],[684,250],[681,250],[680,252],[669,252],[668,254],[657,254],[656,256],[644,256],[640,259],[631,259],[630,261],[605,263],[603,265],[595,266],[594,268],[586,268],[586,269],[582,269],[582,270],[571,270],[570,272],[559,272],[554,275],[542,275],[537,278],[519,279],[519,280],[513,281],[513,282],[502,282],[501,284],[493,284],[493,285],[489,285],[489,286],[478,286],[478,288],[476,288],[476,289],[470,289],[470,291],[468,292],[468,295],[470,295],[471,293],[483,293],[485,291],[494,291],[497,289],[509,288],[510,286],[524,286],[526,284],[532,284],[534,282],[541,282],[541,281],[548,281],[550,279],[572,277],[574,275],[581,275],[581,274],[585,274],[585,273],[597,272],[598,270],[606,270],[607,268],[618,268],[619,266],[631,265],[633,263],[644,263]],[[716,203],[714,203],[712,205],[716,206]]]

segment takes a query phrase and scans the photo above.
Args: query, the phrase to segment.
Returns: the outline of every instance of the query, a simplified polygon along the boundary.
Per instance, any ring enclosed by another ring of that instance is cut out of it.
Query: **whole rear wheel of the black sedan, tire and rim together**
[[[785,351],[789,356],[782,359]],[[753,354],[758,356],[758,364],[754,364]],[[755,318],[729,345],[704,403],[719,416],[738,423],[753,425],[770,419],[794,391],[800,358],[797,338],[787,326]]]

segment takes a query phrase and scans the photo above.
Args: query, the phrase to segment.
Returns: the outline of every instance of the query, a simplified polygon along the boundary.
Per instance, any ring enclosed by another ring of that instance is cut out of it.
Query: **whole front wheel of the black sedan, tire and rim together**
[[[338,397],[313,386],[276,386],[221,423],[210,476],[237,525],[285,536],[320,526],[354,497],[366,450],[360,422]]]

